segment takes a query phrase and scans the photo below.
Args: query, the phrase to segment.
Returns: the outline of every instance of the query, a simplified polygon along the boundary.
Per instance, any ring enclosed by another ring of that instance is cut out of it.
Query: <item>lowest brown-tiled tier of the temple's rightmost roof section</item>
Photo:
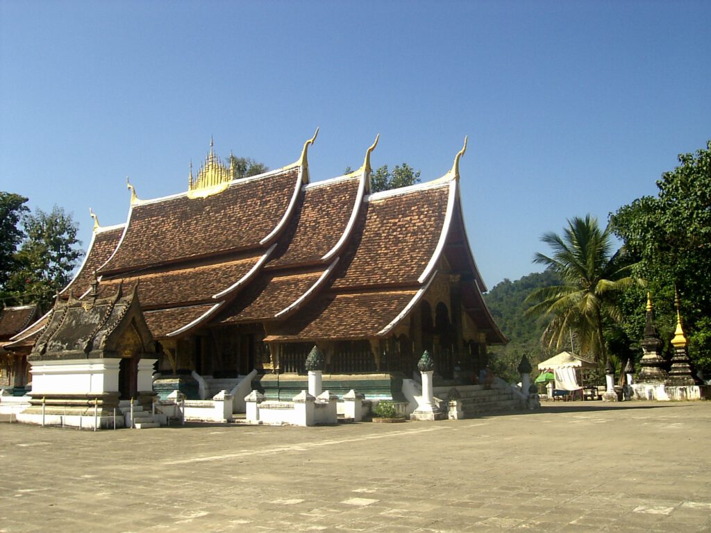
[[[375,337],[417,291],[321,295],[292,319],[274,326],[265,340],[292,342]]]

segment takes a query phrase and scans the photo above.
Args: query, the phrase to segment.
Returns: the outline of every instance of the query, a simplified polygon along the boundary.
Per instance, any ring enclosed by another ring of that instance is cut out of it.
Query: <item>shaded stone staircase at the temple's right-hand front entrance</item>
[[[520,409],[520,399],[513,390],[494,385],[486,389],[484,385],[466,385],[449,390],[445,396],[449,404],[449,419],[475,418],[488,414],[501,414]]]

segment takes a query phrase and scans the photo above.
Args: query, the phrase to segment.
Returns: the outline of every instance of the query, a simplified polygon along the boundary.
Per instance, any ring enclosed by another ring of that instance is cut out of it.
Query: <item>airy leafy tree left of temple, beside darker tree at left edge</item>
[[[72,215],[57,206],[49,213],[37,209],[25,215],[22,224],[27,238],[15,256],[18,269],[9,286],[19,302],[48,308],[83,255],[78,228]]]

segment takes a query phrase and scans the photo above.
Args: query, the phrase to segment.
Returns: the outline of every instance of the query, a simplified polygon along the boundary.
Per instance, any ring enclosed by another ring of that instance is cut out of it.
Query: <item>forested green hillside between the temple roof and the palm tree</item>
[[[557,284],[560,284],[557,274],[544,271],[528,274],[516,281],[504,279],[484,295],[494,320],[509,340],[506,346],[491,348],[493,370],[503,379],[518,382],[520,378],[516,367],[524,353],[533,365],[534,375],[538,373],[536,365],[540,361],[555,355],[556,350],[544,348],[540,343],[546,319],[525,316],[530,304],[524,303],[524,300],[533,289]]]

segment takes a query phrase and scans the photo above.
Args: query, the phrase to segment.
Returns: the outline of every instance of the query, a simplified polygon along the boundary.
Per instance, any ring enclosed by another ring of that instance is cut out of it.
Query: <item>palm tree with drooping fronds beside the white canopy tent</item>
[[[606,362],[603,325],[621,318],[616,294],[632,284],[626,276],[630,266],[617,266],[611,232],[600,230],[597,218],[586,215],[567,222],[562,236],[551,232],[541,237],[552,255],[537,253],[533,259],[559,274],[562,284],[535,289],[526,298],[534,303],[526,313],[552,317],[543,333],[544,343],[560,348],[575,335],[582,354]]]

